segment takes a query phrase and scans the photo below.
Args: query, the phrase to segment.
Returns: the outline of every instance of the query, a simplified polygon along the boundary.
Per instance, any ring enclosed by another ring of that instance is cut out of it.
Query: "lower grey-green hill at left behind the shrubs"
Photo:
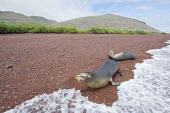
[[[7,23],[31,23],[31,24],[43,24],[43,25],[53,25],[57,23],[54,20],[48,20],[44,17],[39,17],[39,16],[29,17],[12,11],[0,11],[0,21],[7,22]]]

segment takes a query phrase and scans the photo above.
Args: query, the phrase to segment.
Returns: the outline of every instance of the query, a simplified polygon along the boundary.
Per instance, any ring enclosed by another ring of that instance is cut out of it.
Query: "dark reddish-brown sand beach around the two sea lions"
[[[130,51],[136,60],[118,62],[124,78],[133,78],[135,63],[151,58],[145,51],[166,46],[170,35],[13,34],[0,35],[0,112],[43,93],[76,88],[97,103],[111,105],[117,87],[90,89],[74,76],[95,71],[108,51]]]

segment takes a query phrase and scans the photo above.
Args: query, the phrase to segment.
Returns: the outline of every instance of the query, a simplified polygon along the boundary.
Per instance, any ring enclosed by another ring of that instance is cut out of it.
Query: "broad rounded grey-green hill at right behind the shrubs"
[[[127,17],[113,14],[101,16],[88,16],[76,18],[56,24],[57,26],[75,26],[79,29],[89,29],[91,27],[106,27],[123,30],[143,30],[159,32],[158,30],[146,25],[146,23]]]

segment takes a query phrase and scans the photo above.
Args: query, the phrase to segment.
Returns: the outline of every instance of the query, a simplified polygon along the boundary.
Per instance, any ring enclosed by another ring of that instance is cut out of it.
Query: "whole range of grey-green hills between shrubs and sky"
[[[7,23],[31,23],[56,26],[75,26],[78,29],[105,27],[123,30],[142,30],[150,32],[159,32],[157,29],[146,25],[146,23],[142,21],[113,14],[101,16],[87,16],[58,23],[54,20],[49,20],[40,16],[26,16],[12,11],[0,11],[0,21]]]

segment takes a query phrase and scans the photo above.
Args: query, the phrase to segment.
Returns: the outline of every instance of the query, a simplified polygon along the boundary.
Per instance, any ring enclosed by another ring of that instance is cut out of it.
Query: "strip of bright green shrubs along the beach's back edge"
[[[88,30],[79,30],[72,26],[45,26],[40,24],[9,24],[0,22],[0,34],[12,33],[91,33],[91,34],[161,34],[160,32],[145,32],[145,31],[132,31],[132,30],[118,30],[109,28],[91,28]],[[165,34],[165,33],[162,33]]]

